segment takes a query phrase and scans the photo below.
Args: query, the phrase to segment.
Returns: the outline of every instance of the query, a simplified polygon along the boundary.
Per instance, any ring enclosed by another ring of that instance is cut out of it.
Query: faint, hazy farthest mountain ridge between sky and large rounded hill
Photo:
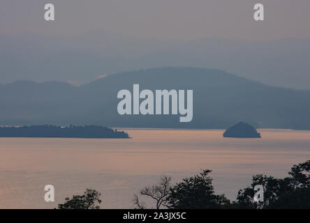
[[[55,38],[0,33],[0,83],[71,80],[166,66],[219,68],[264,84],[310,89],[310,39],[150,40],[104,33]]]

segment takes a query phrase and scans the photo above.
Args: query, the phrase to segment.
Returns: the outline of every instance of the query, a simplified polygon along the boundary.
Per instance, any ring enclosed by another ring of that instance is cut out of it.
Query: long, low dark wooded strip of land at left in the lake
[[[86,125],[67,127],[55,125],[32,125],[21,127],[0,127],[0,137],[28,138],[89,138],[89,139],[127,139],[128,134],[112,128]]]

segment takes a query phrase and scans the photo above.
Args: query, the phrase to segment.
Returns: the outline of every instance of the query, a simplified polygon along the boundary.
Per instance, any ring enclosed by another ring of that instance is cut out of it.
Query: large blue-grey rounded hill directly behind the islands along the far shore
[[[193,89],[193,121],[179,116],[120,116],[117,93]],[[310,129],[310,91],[254,82],[221,70],[156,68],[108,75],[83,86],[59,82],[0,85],[1,125],[104,125],[141,128],[228,128],[238,120],[256,128]]]

